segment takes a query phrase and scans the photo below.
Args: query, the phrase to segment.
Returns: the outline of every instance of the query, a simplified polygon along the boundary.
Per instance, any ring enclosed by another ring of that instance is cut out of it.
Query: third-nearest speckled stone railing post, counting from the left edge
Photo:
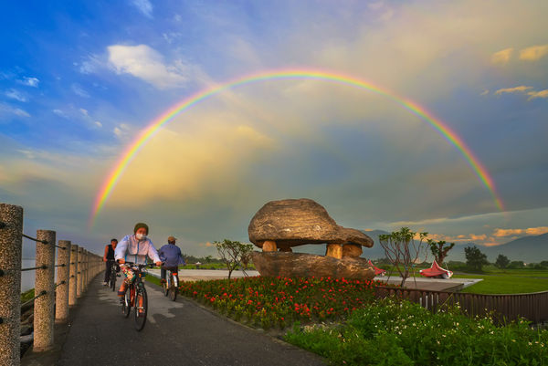
[[[64,323],[68,320],[70,240],[59,240],[58,246],[60,246],[60,248],[58,248],[58,287],[55,290],[55,319],[59,323]]]

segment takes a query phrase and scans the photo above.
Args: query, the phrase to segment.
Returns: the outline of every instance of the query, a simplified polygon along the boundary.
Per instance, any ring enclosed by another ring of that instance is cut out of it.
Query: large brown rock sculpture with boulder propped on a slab
[[[374,269],[360,257],[373,239],[337,225],[321,204],[301,198],[271,201],[253,216],[249,240],[262,248],[253,253],[261,276],[371,279]],[[292,247],[326,244],[325,256],[290,253]]]

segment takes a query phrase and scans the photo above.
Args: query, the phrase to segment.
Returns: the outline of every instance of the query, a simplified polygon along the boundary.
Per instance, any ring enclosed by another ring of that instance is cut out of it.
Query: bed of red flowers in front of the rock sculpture
[[[374,298],[374,281],[327,278],[246,277],[184,282],[181,293],[236,320],[264,329],[295,320],[346,317]]]

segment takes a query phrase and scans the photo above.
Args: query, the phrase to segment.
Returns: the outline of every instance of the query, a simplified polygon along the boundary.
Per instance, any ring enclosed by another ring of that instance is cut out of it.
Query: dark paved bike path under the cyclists
[[[125,319],[119,300],[100,276],[81,298],[58,365],[324,365],[305,350],[272,340],[212,314],[184,298],[171,301],[147,284],[149,313],[141,332],[133,313]]]

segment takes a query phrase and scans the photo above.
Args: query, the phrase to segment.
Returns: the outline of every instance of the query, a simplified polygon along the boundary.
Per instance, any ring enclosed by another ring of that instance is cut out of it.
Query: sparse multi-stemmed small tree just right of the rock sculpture
[[[392,234],[379,235],[379,242],[385,249],[386,258],[402,277],[400,284],[402,288],[409,277],[409,270],[416,263],[418,257],[424,254],[426,260],[427,251],[424,245],[428,233],[420,233],[418,242],[416,242],[416,234],[408,227],[402,227],[400,231],[395,231]]]

